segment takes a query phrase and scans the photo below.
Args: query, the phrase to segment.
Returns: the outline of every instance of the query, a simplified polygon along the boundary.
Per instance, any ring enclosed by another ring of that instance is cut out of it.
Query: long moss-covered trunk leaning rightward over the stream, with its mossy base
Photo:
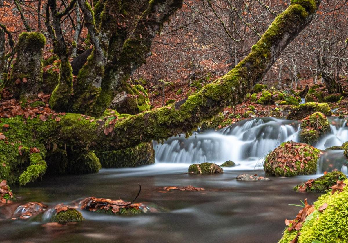
[[[94,153],[89,151],[125,149],[142,142],[163,140],[181,133],[190,134],[202,120],[209,119],[229,104],[243,100],[254,84],[267,73],[284,48],[311,22],[318,5],[319,1],[293,0],[252,47],[251,53],[234,69],[187,99],[169,106],[127,118],[115,117],[111,122],[109,117],[98,120],[85,119],[80,114],[72,113],[62,114],[59,120],[42,121],[34,118],[28,119],[26,123],[23,123],[24,119],[21,117],[2,119],[4,124],[9,124],[9,129],[15,129],[14,131],[23,129],[25,132],[13,133],[12,130],[2,130],[7,143],[0,140],[0,156],[5,164],[0,167],[0,173],[5,171],[0,176],[5,178],[4,175],[8,173],[10,166],[15,166],[11,163],[23,161],[23,157],[18,154],[18,141],[22,142],[20,146],[26,147],[26,150],[32,147],[40,149],[39,159],[32,158],[30,166],[19,178],[21,183],[26,183],[46,171],[46,163],[42,162],[46,149],[69,148],[85,151],[86,156],[90,158],[88,164],[91,168],[97,169],[100,167],[99,161],[95,159]],[[136,54],[140,54],[141,58],[144,57],[142,52],[135,52],[132,53],[134,58]],[[19,163],[18,166],[22,164]],[[76,166],[85,165],[77,163]],[[13,171],[18,173],[18,169]]]

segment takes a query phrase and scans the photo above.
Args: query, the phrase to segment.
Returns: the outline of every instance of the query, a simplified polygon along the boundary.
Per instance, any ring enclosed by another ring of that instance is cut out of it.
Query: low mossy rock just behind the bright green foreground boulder
[[[316,179],[310,179],[294,187],[295,191],[327,192],[337,181],[346,180],[347,176],[341,171],[332,171]]]

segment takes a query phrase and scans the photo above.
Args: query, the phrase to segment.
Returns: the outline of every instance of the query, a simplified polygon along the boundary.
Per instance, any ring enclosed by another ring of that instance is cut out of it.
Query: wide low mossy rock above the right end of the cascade
[[[327,103],[308,102],[292,107],[287,118],[291,120],[301,120],[314,112],[322,112],[325,116],[331,116],[331,109]]]

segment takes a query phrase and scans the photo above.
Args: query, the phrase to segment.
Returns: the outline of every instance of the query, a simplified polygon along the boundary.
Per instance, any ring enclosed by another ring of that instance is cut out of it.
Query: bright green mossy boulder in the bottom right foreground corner
[[[298,235],[298,243],[346,243],[348,234],[348,180],[339,187],[340,192],[327,192],[314,202],[314,210],[307,212],[299,231],[284,230],[279,243],[289,243]],[[290,225],[289,225],[290,226]]]

